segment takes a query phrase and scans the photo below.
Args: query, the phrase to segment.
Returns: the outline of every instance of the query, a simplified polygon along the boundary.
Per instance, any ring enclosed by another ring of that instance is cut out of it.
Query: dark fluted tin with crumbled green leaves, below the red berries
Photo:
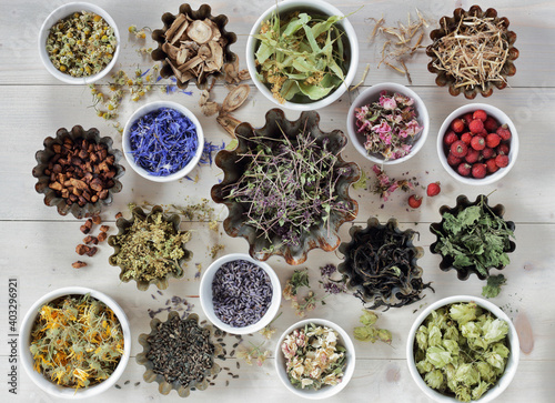
[[[484,194],[474,202],[460,195],[454,208],[442,205],[440,213],[442,221],[430,225],[437,236],[430,250],[442,255],[441,270],[456,270],[458,280],[472,273],[486,280],[490,270],[503,270],[511,262],[507,253],[516,249],[515,223],[503,219],[502,204],[491,206]]]

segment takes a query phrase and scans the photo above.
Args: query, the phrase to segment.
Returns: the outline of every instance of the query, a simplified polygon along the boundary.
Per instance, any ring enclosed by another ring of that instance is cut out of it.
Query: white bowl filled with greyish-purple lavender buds
[[[230,253],[206,269],[200,300],[215,326],[232,334],[254,333],[270,324],[280,310],[280,279],[268,263]]]

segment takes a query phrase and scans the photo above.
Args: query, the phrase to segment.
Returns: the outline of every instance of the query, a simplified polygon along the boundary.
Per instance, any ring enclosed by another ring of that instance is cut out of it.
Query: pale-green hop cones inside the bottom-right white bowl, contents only
[[[462,402],[478,400],[505,371],[508,324],[474,302],[435,310],[416,331],[414,361],[424,382]]]

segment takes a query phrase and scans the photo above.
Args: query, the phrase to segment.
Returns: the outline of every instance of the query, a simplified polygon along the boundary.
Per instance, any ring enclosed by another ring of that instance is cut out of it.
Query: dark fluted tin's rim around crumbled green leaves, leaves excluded
[[[444,213],[451,213],[453,215],[457,215],[461,211],[465,210],[466,208],[470,208],[472,205],[477,205],[481,200],[483,199],[484,201],[484,205],[486,205],[487,208],[485,209],[486,212],[488,212],[490,214],[493,214],[493,215],[496,215],[501,219],[503,219],[503,214],[505,214],[505,206],[503,204],[497,204],[497,205],[494,205],[494,206],[491,206],[490,204],[487,204],[487,197],[484,195],[484,194],[481,194],[476,198],[476,200],[474,202],[471,202],[468,200],[468,198],[466,198],[465,195],[460,195],[458,198],[456,198],[456,205],[454,208],[450,208],[448,205],[442,205],[440,208],[440,214],[442,215],[442,221],[441,222],[434,222],[430,225],[430,231],[437,236],[437,241],[435,241],[434,243],[432,243],[430,245],[430,251],[432,253],[435,253],[435,254],[440,254],[442,256],[442,261],[440,263],[440,269],[443,270],[444,272],[447,272],[450,270],[455,270],[457,272],[457,278],[458,280],[466,280],[468,279],[468,276],[474,273],[477,275],[477,278],[480,280],[485,280],[490,276],[490,270],[491,269],[497,269],[497,270],[503,270],[505,268],[505,265],[503,264],[500,264],[495,268],[486,268],[486,273],[487,275],[484,275],[483,273],[481,273],[475,265],[468,265],[468,266],[463,266],[463,268],[455,268],[453,266],[453,262],[454,262],[454,258],[451,256],[451,255],[443,255],[441,252],[436,252],[435,249],[437,246],[437,243],[440,242],[440,234],[445,234],[445,231],[443,229],[443,225],[444,225],[444,222],[445,222],[445,219],[443,218],[443,214]],[[507,228],[514,232],[515,230],[515,223],[513,221],[506,221],[504,220]],[[508,240],[508,244],[506,248],[504,248],[504,252],[505,253],[511,253],[511,252],[514,252],[516,249],[516,244]]]

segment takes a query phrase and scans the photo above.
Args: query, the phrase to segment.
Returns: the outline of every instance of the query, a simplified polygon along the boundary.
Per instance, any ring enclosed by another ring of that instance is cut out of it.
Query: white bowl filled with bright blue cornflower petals
[[[155,101],[139,108],[123,129],[123,155],[141,177],[171,182],[191,172],[202,157],[204,133],[185,107]]]

